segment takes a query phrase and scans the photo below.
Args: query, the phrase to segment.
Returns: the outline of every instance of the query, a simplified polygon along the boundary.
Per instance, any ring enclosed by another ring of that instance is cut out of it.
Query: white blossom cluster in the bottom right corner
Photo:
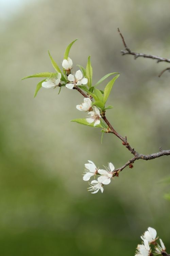
[[[156,242],[158,237],[156,237],[156,230],[149,227],[148,230],[141,236],[142,244],[138,244],[135,256],[150,256],[154,254],[161,255],[165,250],[165,245],[161,239],[160,245]],[[151,245],[154,247],[154,252],[152,253]]]

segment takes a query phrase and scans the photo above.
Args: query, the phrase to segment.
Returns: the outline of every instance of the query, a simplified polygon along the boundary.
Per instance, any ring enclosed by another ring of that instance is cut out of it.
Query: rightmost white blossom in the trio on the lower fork
[[[108,166],[109,168],[106,168],[107,170],[98,170],[98,173],[101,174],[101,176],[97,180],[104,185],[108,185],[111,182],[111,178],[113,177],[112,172],[115,170],[113,163],[109,163]]]

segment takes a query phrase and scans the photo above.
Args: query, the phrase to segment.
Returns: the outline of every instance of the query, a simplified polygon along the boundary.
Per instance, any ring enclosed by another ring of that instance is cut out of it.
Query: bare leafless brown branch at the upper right
[[[137,59],[138,57],[143,57],[143,58],[150,58],[150,59],[155,59],[158,62],[169,62],[170,63],[170,59],[167,58],[162,58],[156,55],[151,55],[151,54],[145,54],[145,53],[135,53],[132,52],[131,49],[128,47],[128,45],[126,44],[124,37],[122,35],[122,33],[120,32],[120,29],[118,28],[118,32],[120,34],[120,37],[122,39],[123,45],[125,50],[121,50],[122,55],[126,55],[126,54],[130,54],[130,55],[134,55],[134,58]],[[158,76],[160,77],[166,70],[170,71],[170,68],[166,68],[164,69]]]

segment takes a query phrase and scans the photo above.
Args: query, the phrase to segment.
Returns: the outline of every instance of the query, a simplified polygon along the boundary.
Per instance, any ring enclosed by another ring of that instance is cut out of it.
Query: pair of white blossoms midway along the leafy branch
[[[84,102],[80,105],[77,105],[76,108],[80,111],[89,111],[88,115],[89,117],[86,118],[86,121],[89,124],[94,123],[94,126],[100,124],[100,110],[96,106],[92,106],[92,102],[90,98],[84,98]]]

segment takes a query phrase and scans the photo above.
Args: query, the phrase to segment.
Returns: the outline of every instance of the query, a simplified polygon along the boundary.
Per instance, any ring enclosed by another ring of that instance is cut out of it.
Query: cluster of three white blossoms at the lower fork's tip
[[[88,160],[88,163],[85,163],[85,174],[83,175],[83,180],[89,181],[90,177],[99,175],[97,181],[93,180],[89,183],[90,187],[88,188],[88,191],[94,191],[91,192],[91,194],[96,194],[101,190],[103,193],[103,186],[108,185],[111,182],[114,170],[115,167],[113,163],[109,163],[108,167],[105,167],[105,170],[103,170],[97,168],[94,162]]]

